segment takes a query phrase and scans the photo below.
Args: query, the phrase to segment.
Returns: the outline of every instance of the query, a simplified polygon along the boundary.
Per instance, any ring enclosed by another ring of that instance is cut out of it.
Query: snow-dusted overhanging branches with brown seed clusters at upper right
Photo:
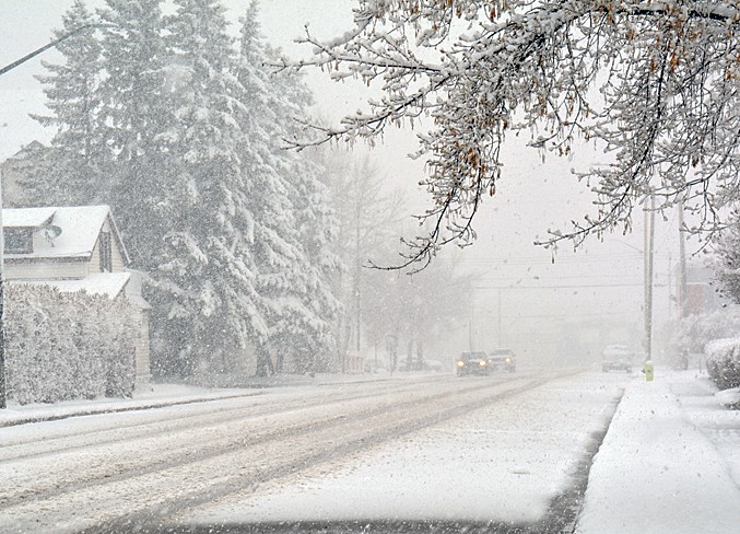
[[[389,126],[416,126],[432,206],[428,232],[406,242],[397,267],[423,268],[444,244],[474,237],[473,217],[502,176],[507,134],[529,132],[542,155],[585,141],[610,153],[576,173],[596,213],[538,244],[626,233],[649,195],[657,210],[683,201],[707,239],[738,197],[740,2],[629,0],[360,0],[354,27],[320,42],[309,60],[334,80],[381,90],[329,140],[371,144]],[[419,267],[421,266],[421,267]]]

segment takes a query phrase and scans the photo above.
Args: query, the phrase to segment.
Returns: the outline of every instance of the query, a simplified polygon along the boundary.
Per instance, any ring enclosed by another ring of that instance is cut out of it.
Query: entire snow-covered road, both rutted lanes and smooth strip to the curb
[[[411,520],[537,521],[613,408],[615,385],[588,384],[537,372],[428,375],[0,429],[0,532],[389,510]],[[365,492],[348,490],[357,480]]]

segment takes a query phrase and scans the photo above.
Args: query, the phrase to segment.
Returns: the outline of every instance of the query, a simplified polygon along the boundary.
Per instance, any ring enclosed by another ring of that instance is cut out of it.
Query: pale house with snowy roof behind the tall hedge
[[[4,278],[61,291],[128,299],[138,313],[137,381],[150,378],[149,311],[141,274],[130,259],[108,206],[2,210]]]

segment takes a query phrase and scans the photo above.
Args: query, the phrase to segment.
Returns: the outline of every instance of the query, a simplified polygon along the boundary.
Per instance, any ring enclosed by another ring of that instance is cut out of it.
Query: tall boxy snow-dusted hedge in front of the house
[[[20,404],[130,396],[134,310],[126,300],[5,286],[9,397]]]

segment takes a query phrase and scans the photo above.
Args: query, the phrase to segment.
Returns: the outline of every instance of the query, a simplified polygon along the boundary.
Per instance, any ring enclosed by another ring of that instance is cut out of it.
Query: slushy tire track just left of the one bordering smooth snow
[[[520,380],[527,378],[516,379]],[[125,443],[95,445],[90,450],[71,451],[61,455],[50,454],[33,458],[31,465],[35,471],[26,469],[27,472],[17,473],[13,471],[14,465],[22,468],[27,464],[5,462],[0,467],[0,474],[9,489],[0,495],[0,511],[12,509],[19,502],[28,504],[40,502],[70,491],[126,481],[227,455],[245,448],[291,439],[312,430],[339,427],[350,417],[362,420],[377,414],[389,415],[419,403],[437,402],[465,392],[490,388],[492,385],[507,387],[512,383],[513,381],[493,384],[490,381],[475,381],[461,384],[454,381],[445,384],[446,390],[434,394],[421,388],[428,384],[416,384],[415,387],[399,384],[401,387],[398,390],[391,388],[381,394],[357,395],[351,399],[350,405],[346,400],[338,400],[317,403],[309,408],[302,405],[290,406],[271,417],[245,415],[204,428],[190,428],[190,436],[187,432],[155,434]],[[414,397],[415,393],[422,393],[423,396]],[[377,397],[381,398],[376,400]],[[367,400],[376,404],[368,405]],[[333,411],[326,414],[328,409]],[[143,455],[142,451],[145,452]]]

